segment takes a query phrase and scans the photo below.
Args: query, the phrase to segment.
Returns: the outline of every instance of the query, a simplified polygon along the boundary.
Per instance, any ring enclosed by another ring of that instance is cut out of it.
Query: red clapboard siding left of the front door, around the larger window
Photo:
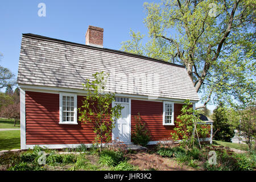
[[[77,96],[81,105],[82,96]],[[59,125],[59,94],[26,92],[26,144],[92,143],[92,124],[77,122]]]

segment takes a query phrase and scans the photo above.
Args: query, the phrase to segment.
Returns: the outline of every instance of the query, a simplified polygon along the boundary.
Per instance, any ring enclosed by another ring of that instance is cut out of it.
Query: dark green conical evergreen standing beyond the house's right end
[[[227,110],[222,103],[213,110],[213,121],[213,139],[231,142],[234,130],[228,121]]]

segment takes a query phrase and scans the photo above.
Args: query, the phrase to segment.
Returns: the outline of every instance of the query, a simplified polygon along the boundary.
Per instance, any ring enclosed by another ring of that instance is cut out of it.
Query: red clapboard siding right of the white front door
[[[182,104],[174,104],[174,119],[180,114]],[[131,131],[134,131],[136,119],[141,115],[142,121],[150,131],[151,141],[159,141],[171,137],[175,126],[163,125],[163,102],[131,100]]]

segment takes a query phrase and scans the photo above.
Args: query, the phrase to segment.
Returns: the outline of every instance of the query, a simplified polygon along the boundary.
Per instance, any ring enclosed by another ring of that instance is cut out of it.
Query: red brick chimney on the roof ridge
[[[103,28],[89,26],[85,35],[85,45],[103,48]]]

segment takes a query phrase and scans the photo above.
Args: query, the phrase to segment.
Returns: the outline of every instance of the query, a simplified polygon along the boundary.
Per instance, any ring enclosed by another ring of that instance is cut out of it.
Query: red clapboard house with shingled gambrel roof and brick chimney
[[[77,109],[86,96],[82,83],[109,73],[106,91],[115,93],[122,117],[112,138],[131,143],[138,113],[155,144],[171,137],[183,102],[199,101],[186,68],[103,47],[103,28],[89,26],[85,44],[23,34],[17,82],[20,88],[21,148],[77,147],[93,143],[91,123]]]

